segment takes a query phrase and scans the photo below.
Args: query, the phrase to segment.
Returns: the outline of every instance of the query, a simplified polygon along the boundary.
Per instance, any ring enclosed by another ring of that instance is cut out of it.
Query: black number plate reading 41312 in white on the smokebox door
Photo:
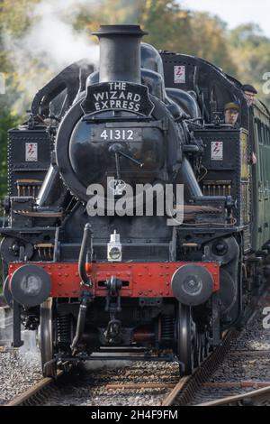
[[[141,142],[141,128],[96,128],[92,142]]]

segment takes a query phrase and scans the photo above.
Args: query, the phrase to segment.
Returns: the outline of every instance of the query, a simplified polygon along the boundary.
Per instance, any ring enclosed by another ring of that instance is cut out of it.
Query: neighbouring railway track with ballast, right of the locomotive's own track
[[[231,343],[224,361],[202,383],[191,404],[270,404],[270,329],[263,326],[263,310],[269,305],[266,290],[246,326]]]

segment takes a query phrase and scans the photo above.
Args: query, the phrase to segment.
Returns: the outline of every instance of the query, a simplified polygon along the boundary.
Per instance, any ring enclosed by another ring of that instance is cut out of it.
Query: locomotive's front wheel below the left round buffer
[[[56,363],[49,364],[44,368],[44,364],[54,358],[54,335],[53,300],[49,298],[40,305],[40,354],[44,377],[55,378],[57,374]]]

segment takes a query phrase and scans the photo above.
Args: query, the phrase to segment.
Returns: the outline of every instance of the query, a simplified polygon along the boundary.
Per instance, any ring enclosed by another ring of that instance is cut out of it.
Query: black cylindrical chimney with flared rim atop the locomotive
[[[140,84],[140,39],[147,32],[139,25],[101,25],[99,82],[129,81]]]

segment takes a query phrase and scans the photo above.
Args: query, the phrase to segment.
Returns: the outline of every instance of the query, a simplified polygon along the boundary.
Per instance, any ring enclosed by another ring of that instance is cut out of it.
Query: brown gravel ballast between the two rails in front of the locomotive
[[[87,365],[86,365],[87,366]],[[45,406],[157,406],[169,389],[108,389],[107,384],[177,383],[178,364],[134,362],[130,366],[92,370],[81,367],[49,394]]]

